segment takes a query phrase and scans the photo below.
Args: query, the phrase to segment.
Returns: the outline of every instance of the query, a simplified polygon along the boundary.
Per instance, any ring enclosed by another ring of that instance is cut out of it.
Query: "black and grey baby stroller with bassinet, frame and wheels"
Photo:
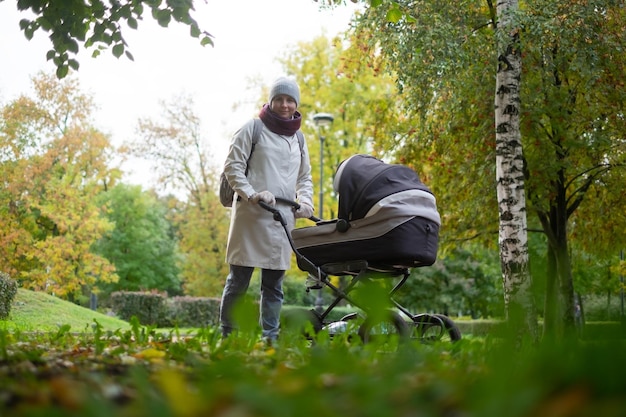
[[[358,323],[365,343],[388,339],[391,334],[398,339],[459,340],[460,331],[449,317],[412,314],[393,298],[412,268],[430,266],[437,257],[441,219],[435,197],[415,171],[369,155],[354,155],[339,165],[334,188],[339,195],[337,219],[312,218],[315,226],[291,233],[280,211],[263,205],[281,221],[298,268],[309,274],[306,290],[326,287],[335,297],[324,311],[307,312],[314,331],[326,328],[332,334]],[[337,285],[333,276],[347,277],[348,282]],[[379,292],[384,288],[385,302],[374,300],[371,291],[368,295],[362,290],[365,295],[361,296],[361,288]],[[359,311],[329,322],[330,312],[342,300]]]

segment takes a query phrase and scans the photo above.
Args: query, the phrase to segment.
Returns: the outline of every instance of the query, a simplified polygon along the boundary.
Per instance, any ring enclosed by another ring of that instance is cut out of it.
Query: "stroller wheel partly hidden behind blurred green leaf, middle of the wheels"
[[[363,343],[376,342],[393,350],[408,339],[409,326],[398,313],[387,310],[382,315],[368,316],[359,328],[359,336]]]

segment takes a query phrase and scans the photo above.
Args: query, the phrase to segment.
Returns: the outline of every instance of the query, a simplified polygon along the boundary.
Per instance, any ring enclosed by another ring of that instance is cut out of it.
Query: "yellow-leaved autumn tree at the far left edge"
[[[109,228],[95,196],[119,173],[108,138],[91,125],[93,104],[76,80],[40,74],[35,97],[3,108],[0,264],[26,288],[72,297],[116,279],[91,246]]]

